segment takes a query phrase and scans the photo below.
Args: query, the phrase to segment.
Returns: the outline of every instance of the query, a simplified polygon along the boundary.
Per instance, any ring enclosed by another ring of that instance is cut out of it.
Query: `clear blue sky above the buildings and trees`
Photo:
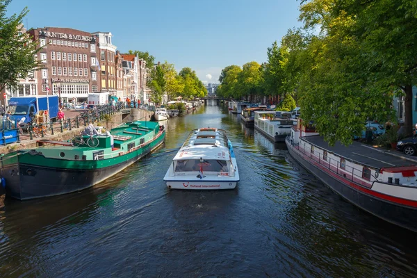
[[[24,7],[26,28],[111,32],[121,53],[149,51],[206,82],[228,65],[265,62],[272,42],[300,26],[300,0],[12,0],[7,15]]]

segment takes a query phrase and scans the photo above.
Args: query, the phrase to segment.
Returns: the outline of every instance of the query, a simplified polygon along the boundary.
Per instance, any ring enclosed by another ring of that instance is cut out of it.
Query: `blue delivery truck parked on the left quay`
[[[10,120],[20,122],[22,127],[26,127],[31,122],[32,117],[39,111],[47,110],[51,121],[56,120],[59,111],[58,96],[33,96],[33,97],[12,97],[8,101],[6,113],[10,115]],[[22,120],[24,117],[24,121]]]

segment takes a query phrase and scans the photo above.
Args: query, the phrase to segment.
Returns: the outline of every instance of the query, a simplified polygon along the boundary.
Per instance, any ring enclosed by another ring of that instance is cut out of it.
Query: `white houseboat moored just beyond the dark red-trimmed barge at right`
[[[291,127],[296,124],[297,120],[291,119],[291,112],[255,111],[255,129],[272,142],[285,142]]]

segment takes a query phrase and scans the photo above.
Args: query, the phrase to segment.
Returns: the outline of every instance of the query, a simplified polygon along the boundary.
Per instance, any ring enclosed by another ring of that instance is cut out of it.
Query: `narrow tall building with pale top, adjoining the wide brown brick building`
[[[113,35],[110,32],[95,32],[99,42],[99,65],[101,73],[101,92],[109,92],[110,95],[117,95],[117,77],[116,77],[116,46],[112,43]],[[122,90],[120,90],[122,92]]]

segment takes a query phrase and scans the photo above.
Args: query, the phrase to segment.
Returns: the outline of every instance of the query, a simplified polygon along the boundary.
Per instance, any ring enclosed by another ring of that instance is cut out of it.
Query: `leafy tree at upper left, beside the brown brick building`
[[[40,67],[36,56],[40,51],[39,42],[21,32],[28,8],[19,15],[6,17],[8,3],[10,1],[0,0],[0,91],[6,86],[17,86],[18,79],[26,78],[29,72]]]

